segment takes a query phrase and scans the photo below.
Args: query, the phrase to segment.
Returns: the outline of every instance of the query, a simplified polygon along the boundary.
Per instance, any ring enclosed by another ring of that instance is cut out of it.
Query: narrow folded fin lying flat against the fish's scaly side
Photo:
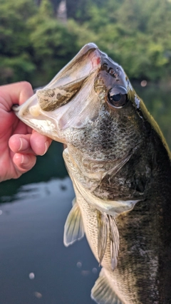
[[[117,257],[119,251],[119,232],[115,217],[105,212],[97,211],[98,219],[98,258],[99,263],[103,261],[107,239],[110,239],[110,258],[112,270],[117,266]]]

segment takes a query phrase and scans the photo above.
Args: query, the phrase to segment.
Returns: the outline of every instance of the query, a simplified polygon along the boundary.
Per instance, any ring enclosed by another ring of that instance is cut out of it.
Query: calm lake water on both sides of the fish
[[[136,88],[170,142],[168,89]],[[63,226],[74,197],[53,142],[36,167],[0,187],[0,304],[93,304],[100,268],[84,238],[66,248]]]

